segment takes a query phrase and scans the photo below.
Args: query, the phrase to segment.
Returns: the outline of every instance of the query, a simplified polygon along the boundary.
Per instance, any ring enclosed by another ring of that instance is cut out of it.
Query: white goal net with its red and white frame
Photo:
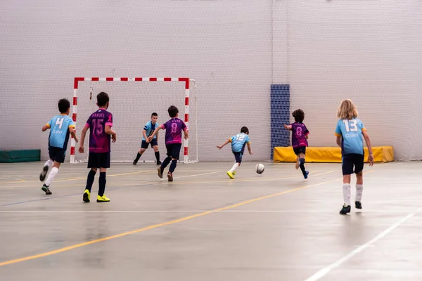
[[[167,108],[175,105],[179,109],[179,119],[184,120],[189,130],[188,140],[182,138],[180,161],[198,162],[195,89],[195,81],[188,78],[77,77],[72,107],[77,136],[80,136],[89,115],[98,110],[96,96],[104,91],[110,96],[108,111],[113,114],[113,130],[117,133],[117,141],[111,144],[111,162],[133,162],[141,148],[143,127],[151,120],[151,114],[156,112],[158,124],[162,124],[170,119]],[[79,144],[73,138],[70,145],[70,162],[87,162],[89,133],[84,141],[83,154],[78,152]],[[165,159],[165,131],[159,133],[158,148],[160,159]],[[138,163],[141,162],[155,162],[151,145],[139,159]]]

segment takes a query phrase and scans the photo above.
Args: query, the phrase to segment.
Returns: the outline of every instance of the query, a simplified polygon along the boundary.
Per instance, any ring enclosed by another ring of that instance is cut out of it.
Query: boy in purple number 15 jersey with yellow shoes
[[[113,115],[107,111],[109,105],[108,94],[101,92],[97,95],[98,110],[91,114],[81,134],[79,153],[84,153],[84,140],[89,129],[89,156],[88,168],[91,168],[87,178],[87,187],[84,191],[84,202],[91,200],[91,188],[98,168],[100,168],[100,179],[98,181],[97,202],[109,202],[104,191],[106,190],[106,171],[110,168],[110,139],[116,141],[116,133],[111,129],[113,126]]]

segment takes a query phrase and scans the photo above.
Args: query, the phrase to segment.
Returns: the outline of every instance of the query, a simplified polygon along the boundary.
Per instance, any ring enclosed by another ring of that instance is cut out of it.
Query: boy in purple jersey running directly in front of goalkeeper
[[[169,181],[173,181],[173,172],[177,166],[177,160],[180,157],[180,148],[181,148],[181,131],[184,132],[184,139],[188,139],[188,127],[184,122],[179,119],[179,110],[174,105],[170,106],[167,110],[170,115],[169,121],[165,122],[161,126],[158,126],[157,129],[153,132],[151,136],[148,137],[148,141],[151,141],[155,134],[160,131],[160,129],[165,130],[165,147],[167,148],[167,158],[164,159],[160,168],[158,168],[158,176],[162,178],[162,172],[165,167],[170,164],[169,172],[167,173],[167,178]]]

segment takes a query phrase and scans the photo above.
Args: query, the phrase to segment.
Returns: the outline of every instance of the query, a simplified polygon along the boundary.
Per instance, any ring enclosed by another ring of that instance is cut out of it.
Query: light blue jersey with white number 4
[[[68,115],[56,115],[46,124],[50,128],[49,146],[68,148],[69,128],[75,129],[75,123]]]

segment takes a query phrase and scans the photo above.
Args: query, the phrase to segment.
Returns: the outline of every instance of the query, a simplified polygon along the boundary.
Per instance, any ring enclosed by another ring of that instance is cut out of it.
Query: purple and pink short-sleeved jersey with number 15
[[[113,115],[107,110],[97,110],[88,118],[89,152],[110,152],[111,136],[106,133],[106,125],[113,126]]]

